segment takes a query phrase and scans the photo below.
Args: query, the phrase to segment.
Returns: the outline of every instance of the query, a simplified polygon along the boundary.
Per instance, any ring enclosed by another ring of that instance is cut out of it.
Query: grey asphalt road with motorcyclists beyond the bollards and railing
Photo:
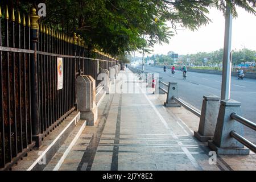
[[[142,69],[141,66],[138,68]],[[185,102],[195,106],[201,110],[203,96],[214,94],[220,97],[221,94],[221,75],[187,72],[186,80],[183,80],[182,72],[175,71],[171,74],[171,70],[166,72],[163,68],[145,67],[146,72],[159,73],[159,77],[163,77],[163,82],[177,82],[179,89],[179,97]],[[256,122],[256,80],[243,78],[238,80],[237,77],[232,77],[231,93],[233,100],[239,101],[242,104],[242,116],[250,121]],[[256,132],[245,127],[245,137],[256,144]]]

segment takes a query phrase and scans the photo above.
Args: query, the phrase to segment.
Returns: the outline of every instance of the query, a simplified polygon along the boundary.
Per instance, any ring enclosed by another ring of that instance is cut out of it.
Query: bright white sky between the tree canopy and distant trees
[[[170,44],[155,45],[152,54],[167,55],[168,51],[174,51],[179,55],[187,55],[187,53],[209,52],[223,48],[224,15],[215,8],[209,11],[208,17],[212,19],[212,23],[194,32],[177,31],[177,34],[170,40]],[[242,49],[244,45],[246,48],[256,50],[256,16],[240,8],[237,8],[237,11],[238,17],[233,19],[232,49]],[[136,52],[136,56],[142,56],[142,53]]]

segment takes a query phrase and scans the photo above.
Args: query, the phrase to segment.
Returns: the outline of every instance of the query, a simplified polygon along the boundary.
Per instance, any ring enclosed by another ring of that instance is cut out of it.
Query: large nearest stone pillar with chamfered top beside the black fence
[[[96,106],[96,82],[90,75],[78,76],[76,79],[77,109],[80,118],[86,119],[86,125],[94,125],[98,119]]]

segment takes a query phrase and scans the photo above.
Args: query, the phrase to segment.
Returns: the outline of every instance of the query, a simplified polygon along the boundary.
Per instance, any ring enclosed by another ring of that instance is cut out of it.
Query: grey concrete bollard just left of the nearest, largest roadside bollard
[[[213,139],[218,110],[220,109],[220,97],[209,95],[203,98],[199,129],[194,131],[194,135],[201,142],[207,142]]]

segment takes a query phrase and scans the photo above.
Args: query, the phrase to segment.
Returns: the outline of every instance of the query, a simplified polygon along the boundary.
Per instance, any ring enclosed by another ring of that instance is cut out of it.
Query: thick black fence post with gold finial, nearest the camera
[[[40,121],[39,121],[39,105],[38,105],[38,70],[37,70],[37,57],[36,57],[36,44],[38,43],[38,20],[39,16],[36,15],[36,9],[32,8],[31,13],[31,47],[35,51],[31,60],[31,120],[32,120],[32,138],[36,142],[35,147],[39,147],[42,143],[40,137]]]

